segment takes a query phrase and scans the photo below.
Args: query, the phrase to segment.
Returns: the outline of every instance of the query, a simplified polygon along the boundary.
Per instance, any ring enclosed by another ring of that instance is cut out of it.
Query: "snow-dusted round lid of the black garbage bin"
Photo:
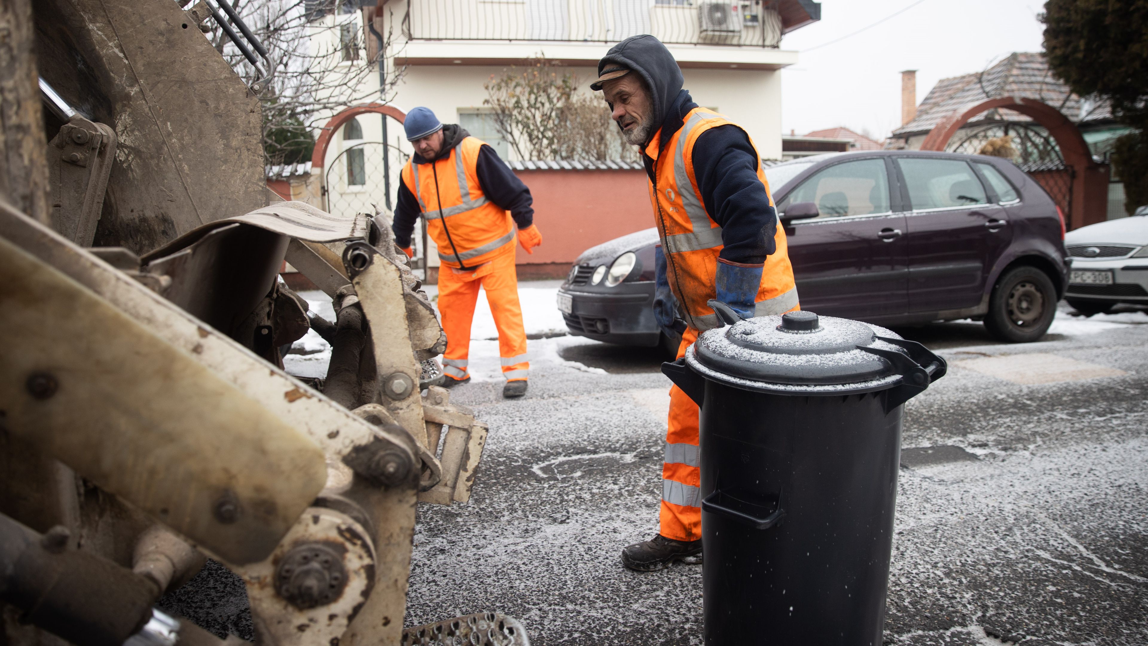
[[[703,332],[693,359],[715,377],[799,386],[883,382],[891,363],[858,346],[898,352],[877,337],[900,339],[890,330],[812,312],[759,316]],[[874,383],[874,386],[879,384]]]

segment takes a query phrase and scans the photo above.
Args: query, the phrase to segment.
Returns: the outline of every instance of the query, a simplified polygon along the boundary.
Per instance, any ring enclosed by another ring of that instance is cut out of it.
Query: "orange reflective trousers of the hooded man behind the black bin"
[[[682,334],[677,357],[698,339],[689,328]],[[677,386],[669,389],[666,457],[661,466],[659,533],[674,540],[701,538],[701,453],[698,448],[698,405]]]

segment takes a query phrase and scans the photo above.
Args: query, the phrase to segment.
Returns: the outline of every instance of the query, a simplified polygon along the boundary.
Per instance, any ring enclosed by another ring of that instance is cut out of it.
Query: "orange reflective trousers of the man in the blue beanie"
[[[526,328],[522,307],[518,302],[518,274],[514,271],[514,246],[506,245],[503,253],[480,264],[476,269],[439,268],[439,313],[447,332],[447,352],[443,353],[443,372],[465,379],[467,356],[471,352],[471,322],[479,287],[487,291],[490,314],[498,328],[498,354],[502,356],[503,376],[507,382],[525,380],[530,370],[526,354]]]

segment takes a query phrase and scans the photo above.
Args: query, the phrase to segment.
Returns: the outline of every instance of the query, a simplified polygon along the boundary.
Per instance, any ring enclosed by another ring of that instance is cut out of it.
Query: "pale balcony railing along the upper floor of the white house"
[[[616,43],[652,33],[662,43],[777,47],[773,0],[410,0],[414,40]]]

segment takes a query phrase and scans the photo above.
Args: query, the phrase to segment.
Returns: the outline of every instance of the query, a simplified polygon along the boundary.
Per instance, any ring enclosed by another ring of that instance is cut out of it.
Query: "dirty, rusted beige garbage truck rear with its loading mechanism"
[[[3,643],[235,643],[156,607],[210,559],[261,645],[528,644],[404,628],[417,505],[468,500],[487,426],[387,214],[272,201],[263,89],[204,21],[258,54],[226,0],[0,6]],[[324,378],[284,370],[309,330]]]

